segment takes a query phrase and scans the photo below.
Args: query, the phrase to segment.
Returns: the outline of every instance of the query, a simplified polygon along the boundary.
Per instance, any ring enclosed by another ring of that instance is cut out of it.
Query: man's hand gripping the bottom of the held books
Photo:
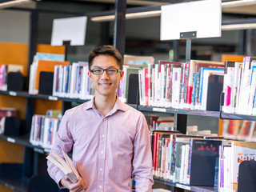
[[[78,182],[73,183],[70,181],[69,178],[65,177],[61,180],[62,186],[65,186],[67,189],[69,189],[71,192],[85,192],[86,191],[86,185],[83,182],[82,178],[79,178]]]

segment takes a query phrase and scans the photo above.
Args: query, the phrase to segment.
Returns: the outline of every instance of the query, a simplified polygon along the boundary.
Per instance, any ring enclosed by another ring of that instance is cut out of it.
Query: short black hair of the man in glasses
[[[89,70],[90,70],[90,67],[93,65],[94,58],[99,55],[109,55],[114,57],[118,63],[118,66],[120,67],[120,70],[122,70],[122,55],[119,53],[119,51],[116,48],[114,48],[114,46],[110,46],[110,45],[99,46],[90,52],[90,54],[88,55]]]

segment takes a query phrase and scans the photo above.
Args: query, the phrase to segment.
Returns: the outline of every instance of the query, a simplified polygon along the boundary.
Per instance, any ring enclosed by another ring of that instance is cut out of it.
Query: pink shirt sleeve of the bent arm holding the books
[[[64,114],[62,117],[62,121],[60,122],[60,125],[58,127],[58,132],[56,134],[54,146],[52,150],[50,150],[50,153],[52,151],[55,151],[58,153],[62,158],[64,158],[62,154],[62,149],[69,153],[73,146],[73,138],[70,134],[70,114]],[[51,178],[54,179],[54,181],[58,184],[58,187],[62,189],[63,187],[59,185],[59,182],[62,178],[64,178],[66,175],[60,170],[57,166],[55,166],[52,162],[49,160],[47,161],[48,166],[48,174]]]

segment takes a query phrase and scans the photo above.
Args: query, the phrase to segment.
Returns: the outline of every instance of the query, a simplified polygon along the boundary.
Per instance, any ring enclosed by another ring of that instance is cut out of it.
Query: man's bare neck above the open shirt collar
[[[116,100],[116,95],[111,97],[102,97],[102,95],[96,94],[94,97],[94,106],[105,117],[106,114],[108,114],[110,110],[113,109]]]

